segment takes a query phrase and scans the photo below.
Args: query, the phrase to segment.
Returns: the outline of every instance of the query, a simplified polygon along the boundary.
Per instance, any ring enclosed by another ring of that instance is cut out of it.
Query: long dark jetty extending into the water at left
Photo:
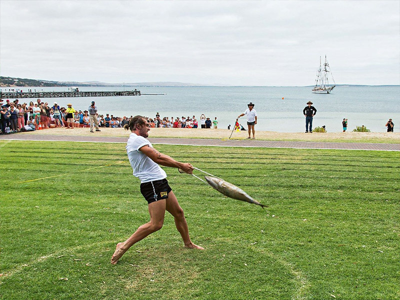
[[[69,98],[69,97],[105,97],[105,96],[140,96],[140,90],[113,91],[1,91],[0,98]]]

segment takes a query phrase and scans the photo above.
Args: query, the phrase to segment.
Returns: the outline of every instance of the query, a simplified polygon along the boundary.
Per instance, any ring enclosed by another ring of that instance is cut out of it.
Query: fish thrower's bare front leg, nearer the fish
[[[173,215],[176,229],[178,229],[180,236],[182,236],[184,246],[186,248],[203,250],[203,247],[191,242],[183,209],[179,206],[178,200],[172,190],[168,193],[168,198],[166,199],[166,210]]]

